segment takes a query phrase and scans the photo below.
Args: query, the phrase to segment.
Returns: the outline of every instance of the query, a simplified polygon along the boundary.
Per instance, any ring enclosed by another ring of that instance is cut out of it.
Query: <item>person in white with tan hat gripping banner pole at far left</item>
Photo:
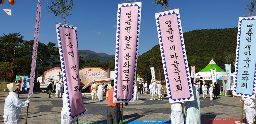
[[[7,84],[9,95],[4,100],[4,124],[19,124],[21,108],[27,107],[30,100],[22,101],[18,98],[19,89],[15,83]]]

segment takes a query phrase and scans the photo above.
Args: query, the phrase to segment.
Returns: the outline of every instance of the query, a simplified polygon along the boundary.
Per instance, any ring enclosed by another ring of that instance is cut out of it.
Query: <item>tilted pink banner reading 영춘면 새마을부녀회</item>
[[[169,102],[193,101],[179,9],[155,13]]]

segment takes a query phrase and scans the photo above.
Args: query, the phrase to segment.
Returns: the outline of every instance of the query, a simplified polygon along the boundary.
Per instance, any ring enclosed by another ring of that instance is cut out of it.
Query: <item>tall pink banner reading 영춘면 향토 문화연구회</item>
[[[141,2],[118,4],[113,102],[133,102]]]

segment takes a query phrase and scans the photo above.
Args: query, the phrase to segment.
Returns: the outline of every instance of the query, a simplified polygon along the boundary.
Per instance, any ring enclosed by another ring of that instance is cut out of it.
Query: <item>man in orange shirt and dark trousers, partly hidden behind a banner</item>
[[[114,103],[114,80],[111,81],[112,88],[108,90],[108,109],[107,109],[107,121],[108,124],[119,124],[121,119],[120,103]],[[128,105],[128,103],[125,103]]]

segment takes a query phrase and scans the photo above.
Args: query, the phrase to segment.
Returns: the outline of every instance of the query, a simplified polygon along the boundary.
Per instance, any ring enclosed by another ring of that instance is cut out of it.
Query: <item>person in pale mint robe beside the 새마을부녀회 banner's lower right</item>
[[[192,84],[193,85],[193,84]],[[192,86],[195,101],[189,101],[186,106],[186,124],[201,124],[200,96],[195,86]]]

